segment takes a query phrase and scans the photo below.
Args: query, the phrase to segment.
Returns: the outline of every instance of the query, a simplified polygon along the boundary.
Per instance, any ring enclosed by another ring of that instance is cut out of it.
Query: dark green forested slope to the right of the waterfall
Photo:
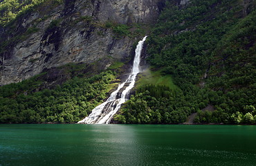
[[[173,2],[167,1],[149,35],[147,53],[154,70],[172,75],[179,89],[140,85],[116,120],[181,123],[197,113],[197,123],[256,123],[255,6],[248,11],[236,0],[194,0],[183,7]]]

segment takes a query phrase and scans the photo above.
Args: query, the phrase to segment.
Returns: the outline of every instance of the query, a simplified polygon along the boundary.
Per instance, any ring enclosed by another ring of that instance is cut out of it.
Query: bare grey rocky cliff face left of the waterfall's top
[[[116,37],[115,24],[152,23],[163,0],[66,0],[44,4],[1,28],[0,85],[70,62],[129,57],[135,37]],[[107,64],[106,64],[107,65]]]

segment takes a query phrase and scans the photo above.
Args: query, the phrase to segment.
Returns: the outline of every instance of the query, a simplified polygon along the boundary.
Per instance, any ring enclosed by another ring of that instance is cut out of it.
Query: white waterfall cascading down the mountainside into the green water
[[[135,57],[134,57],[134,64],[132,66],[132,71],[125,82],[122,82],[122,84],[118,85],[118,89],[111,93],[110,97],[107,99],[106,102],[103,102],[102,104],[98,105],[91,111],[91,114],[84,118],[83,120],[80,120],[77,123],[82,124],[109,124],[110,120],[113,118],[113,116],[116,114],[116,112],[120,109],[121,105],[126,102],[128,99],[126,98],[127,95],[129,95],[129,91],[134,87],[136,75],[140,73],[140,54],[141,50],[143,49],[143,43],[145,42],[147,36],[143,38],[140,42],[138,42],[138,45],[135,50]],[[129,84],[125,90],[120,91],[125,84]],[[122,92],[120,95],[120,98],[118,98],[118,92]]]

